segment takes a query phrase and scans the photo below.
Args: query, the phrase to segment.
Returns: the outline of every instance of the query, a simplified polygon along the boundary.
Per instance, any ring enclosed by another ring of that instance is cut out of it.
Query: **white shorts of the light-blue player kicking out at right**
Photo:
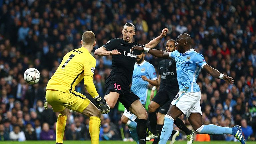
[[[184,92],[180,91],[172,101],[183,114],[188,118],[191,113],[200,113],[202,110],[200,106],[201,92]]]

